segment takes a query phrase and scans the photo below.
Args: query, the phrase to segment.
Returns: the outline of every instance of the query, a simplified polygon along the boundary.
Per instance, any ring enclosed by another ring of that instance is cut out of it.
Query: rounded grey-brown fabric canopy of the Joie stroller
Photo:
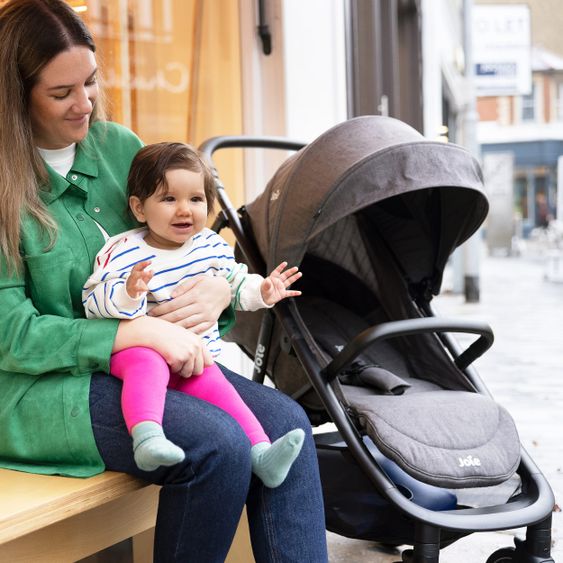
[[[271,271],[282,260],[299,265],[312,239],[375,204],[385,220],[374,224],[403,272],[430,280],[435,294],[449,255],[488,211],[466,150],[381,116],[345,121],[292,155],[247,211]]]

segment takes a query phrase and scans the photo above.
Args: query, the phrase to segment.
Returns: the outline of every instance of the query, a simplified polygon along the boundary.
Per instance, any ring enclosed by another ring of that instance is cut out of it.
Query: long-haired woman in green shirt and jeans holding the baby
[[[224,370],[273,439],[295,427],[307,434],[280,487],[251,478],[250,444],[232,418],[174,391],[163,424],[185,460],[137,468],[121,384],[106,375],[111,354],[150,346],[171,370],[200,373],[206,352],[197,333],[230,295],[224,280],[205,278],[152,317],[84,319],[82,284],[104,237],[133,226],[125,182],[141,147],[131,131],[100,117],[95,46],[80,18],[62,0],[3,5],[0,466],[72,476],[110,469],[162,485],[155,561],[223,561],[245,503],[257,561],[326,561],[310,427],[277,391]]]

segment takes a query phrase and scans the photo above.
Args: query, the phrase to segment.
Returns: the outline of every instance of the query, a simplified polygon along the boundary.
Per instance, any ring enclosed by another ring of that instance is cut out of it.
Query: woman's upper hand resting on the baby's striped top
[[[198,276],[176,287],[172,300],[157,305],[149,315],[201,334],[217,322],[230,302],[225,278]]]

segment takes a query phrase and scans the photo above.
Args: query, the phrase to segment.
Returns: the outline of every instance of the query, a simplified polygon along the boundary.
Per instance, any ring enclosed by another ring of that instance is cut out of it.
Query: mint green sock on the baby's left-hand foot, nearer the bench
[[[135,424],[131,429],[135,463],[143,471],[154,471],[161,465],[175,465],[184,457],[184,450],[166,439],[162,426],[152,420]]]

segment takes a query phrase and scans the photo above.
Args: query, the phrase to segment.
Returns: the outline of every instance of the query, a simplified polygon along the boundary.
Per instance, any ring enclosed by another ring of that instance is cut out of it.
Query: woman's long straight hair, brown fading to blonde
[[[63,0],[11,0],[0,7],[0,254],[19,271],[21,221],[35,218],[53,244],[56,224],[40,198],[45,164],[33,140],[30,92],[43,68],[73,46],[96,51],[84,22]],[[98,102],[90,121],[99,118]]]

